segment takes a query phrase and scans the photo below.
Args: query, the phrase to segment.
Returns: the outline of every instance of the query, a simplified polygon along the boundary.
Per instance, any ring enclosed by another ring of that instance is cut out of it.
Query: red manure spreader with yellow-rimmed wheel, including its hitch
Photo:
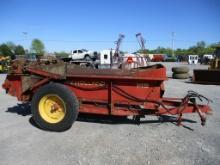
[[[2,85],[19,101],[31,102],[35,122],[43,129],[64,131],[78,113],[133,116],[198,113],[202,125],[208,105],[202,95],[189,91],[184,98],[164,98],[166,68],[157,64],[138,69],[80,68],[64,62],[14,60]],[[206,99],[209,101],[208,99]]]

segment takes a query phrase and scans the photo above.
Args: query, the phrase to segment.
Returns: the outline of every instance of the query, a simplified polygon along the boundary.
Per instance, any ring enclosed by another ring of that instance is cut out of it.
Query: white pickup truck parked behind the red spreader
[[[97,52],[95,51],[88,51],[86,49],[77,49],[73,50],[69,55],[69,58],[72,60],[94,60],[97,57]]]

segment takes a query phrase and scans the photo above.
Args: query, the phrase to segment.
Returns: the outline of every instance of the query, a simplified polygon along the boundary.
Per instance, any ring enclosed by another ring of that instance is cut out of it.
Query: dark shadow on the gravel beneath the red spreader
[[[30,104],[28,104],[28,103],[17,104],[16,106],[8,108],[6,110],[6,112],[15,113],[15,114],[18,114],[21,116],[27,116],[27,115],[31,115],[31,108],[30,108]],[[77,121],[78,122],[100,123],[100,124],[137,124],[137,125],[139,125],[139,124],[151,124],[151,123],[158,123],[158,124],[172,123],[172,124],[176,125],[177,118],[174,116],[162,115],[159,117],[158,120],[141,119],[140,122],[137,122],[137,121],[130,119],[130,118],[127,118],[127,117],[79,113]],[[32,117],[29,119],[29,122],[34,127],[39,128]],[[183,118],[182,123],[197,123],[197,122],[194,120]],[[191,128],[189,128],[187,126],[184,126],[184,125],[182,125],[182,126],[184,128],[189,129],[189,130],[192,130]]]

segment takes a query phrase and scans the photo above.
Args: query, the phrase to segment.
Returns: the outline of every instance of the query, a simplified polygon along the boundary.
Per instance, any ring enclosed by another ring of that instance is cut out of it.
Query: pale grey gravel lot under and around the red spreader
[[[178,63],[165,63],[167,75]],[[190,66],[207,68],[207,66]],[[191,72],[192,74],[192,72]],[[0,75],[0,84],[5,75]],[[30,109],[0,88],[0,164],[220,164],[220,86],[198,85],[185,80],[165,82],[168,97],[183,97],[195,90],[214,103],[213,115],[202,127],[197,114],[185,115],[184,127],[159,123],[156,117],[130,120],[81,117],[62,133],[46,132],[31,120]]]

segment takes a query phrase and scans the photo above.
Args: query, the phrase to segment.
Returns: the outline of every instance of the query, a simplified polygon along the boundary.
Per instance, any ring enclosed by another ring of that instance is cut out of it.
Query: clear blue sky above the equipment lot
[[[23,32],[26,32],[25,34]],[[29,48],[41,39],[47,51],[114,48],[125,34],[121,50],[146,47],[187,48],[197,41],[220,41],[220,0],[0,0],[0,43]]]

